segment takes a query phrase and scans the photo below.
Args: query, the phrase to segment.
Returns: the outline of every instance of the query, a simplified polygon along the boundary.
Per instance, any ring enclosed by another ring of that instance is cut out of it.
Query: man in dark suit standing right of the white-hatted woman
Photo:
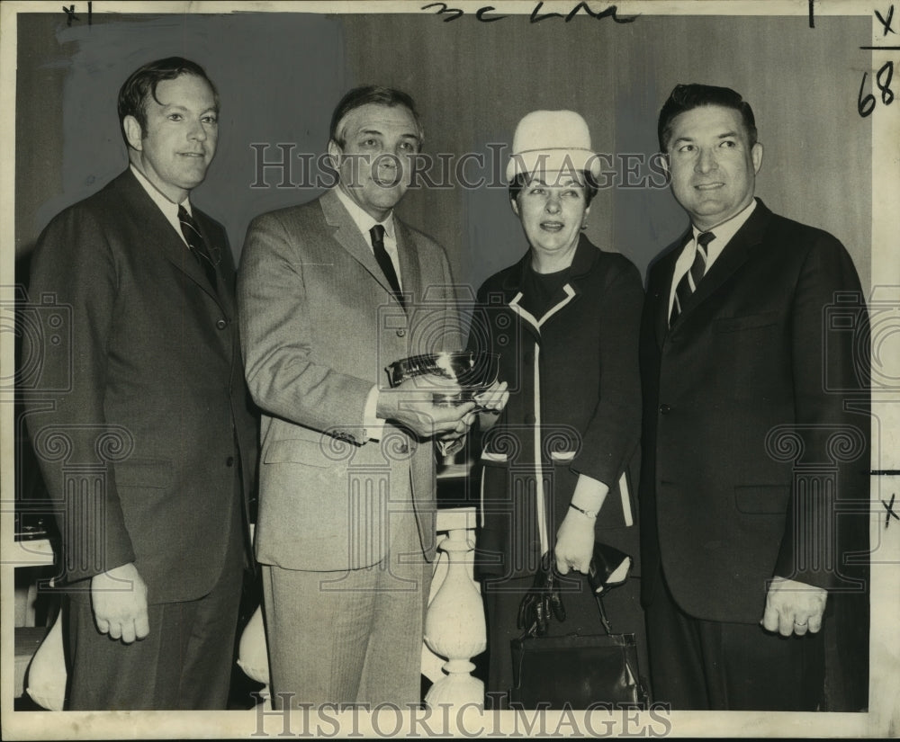
[[[857,273],[834,237],[754,199],[762,146],[739,94],[678,85],[659,138],[691,224],[650,270],[641,337],[654,693],[677,709],[859,710],[869,351]]]

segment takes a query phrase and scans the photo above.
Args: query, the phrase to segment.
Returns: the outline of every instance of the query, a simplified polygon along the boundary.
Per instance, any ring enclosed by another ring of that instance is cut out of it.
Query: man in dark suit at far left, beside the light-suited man
[[[219,99],[166,58],[118,108],[129,168],[50,222],[31,267],[31,296],[72,317],[73,366],[47,370],[70,390],[29,416],[62,533],[67,708],[222,709],[257,426],[225,232],[188,198]]]

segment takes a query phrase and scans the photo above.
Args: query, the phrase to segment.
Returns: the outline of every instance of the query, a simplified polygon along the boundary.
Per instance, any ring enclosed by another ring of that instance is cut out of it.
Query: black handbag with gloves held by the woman
[[[597,600],[606,633],[545,637],[551,613],[565,621],[565,611],[554,585],[554,556],[545,554],[535,586],[519,608],[525,633],[510,642],[513,687],[509,702],[523,709],[646,709],[649,696],[637,664],[634,634],[612,633],[601,594],[627,579],[631,558],[623,552],[595,544],[590,564],[590,586]]]

